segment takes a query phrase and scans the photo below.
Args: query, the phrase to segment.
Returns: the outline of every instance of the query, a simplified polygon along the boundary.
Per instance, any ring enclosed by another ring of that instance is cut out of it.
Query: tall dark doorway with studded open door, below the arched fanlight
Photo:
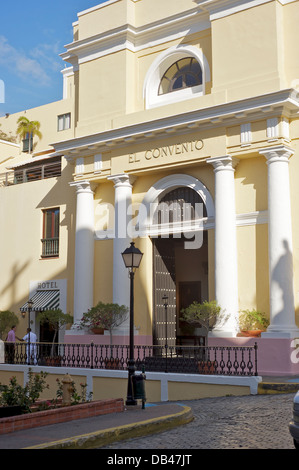
[[[183,238],[153,239],[154,344],[199,344],[202,332],[181,319],[181,310],[194,301],[208,299],[208,244],[186,249]],[[167,328],[163,296],[168,296]],[[166,338],[167,334],[167,338]]]

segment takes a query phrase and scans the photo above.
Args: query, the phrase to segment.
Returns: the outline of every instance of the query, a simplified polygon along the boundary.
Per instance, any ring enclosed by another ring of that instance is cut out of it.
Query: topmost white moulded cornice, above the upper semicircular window
[[[208,15],[198,8],[175,15],[165,21],[150,23],[140,28],[124,24],[110,31],[67,44],[60,56],[72,65],[103,57],[120,50],[138,52],[165,42],[186,37],[210,27]]]

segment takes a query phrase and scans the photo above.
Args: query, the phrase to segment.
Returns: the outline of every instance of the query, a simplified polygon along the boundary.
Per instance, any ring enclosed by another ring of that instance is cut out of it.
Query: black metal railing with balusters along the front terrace
[[[258,375],[254,346],[135,346],[136,369],[184,374]],[[5,344],[5,362],[51,367],[127,370],[129,346],[98,344]]]

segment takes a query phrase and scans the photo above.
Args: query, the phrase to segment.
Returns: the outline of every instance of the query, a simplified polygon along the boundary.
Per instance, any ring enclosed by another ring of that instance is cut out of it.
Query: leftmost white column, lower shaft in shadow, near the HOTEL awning
[[[93,307],[94,193],[88,181],[70,183],[77,189],[74,323]]]

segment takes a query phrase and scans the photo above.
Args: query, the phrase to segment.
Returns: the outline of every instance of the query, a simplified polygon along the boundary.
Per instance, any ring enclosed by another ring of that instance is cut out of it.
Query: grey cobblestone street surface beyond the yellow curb
[[[194,420],[107,449],[294,449],[288,424],[294,394],[185,401]]]

